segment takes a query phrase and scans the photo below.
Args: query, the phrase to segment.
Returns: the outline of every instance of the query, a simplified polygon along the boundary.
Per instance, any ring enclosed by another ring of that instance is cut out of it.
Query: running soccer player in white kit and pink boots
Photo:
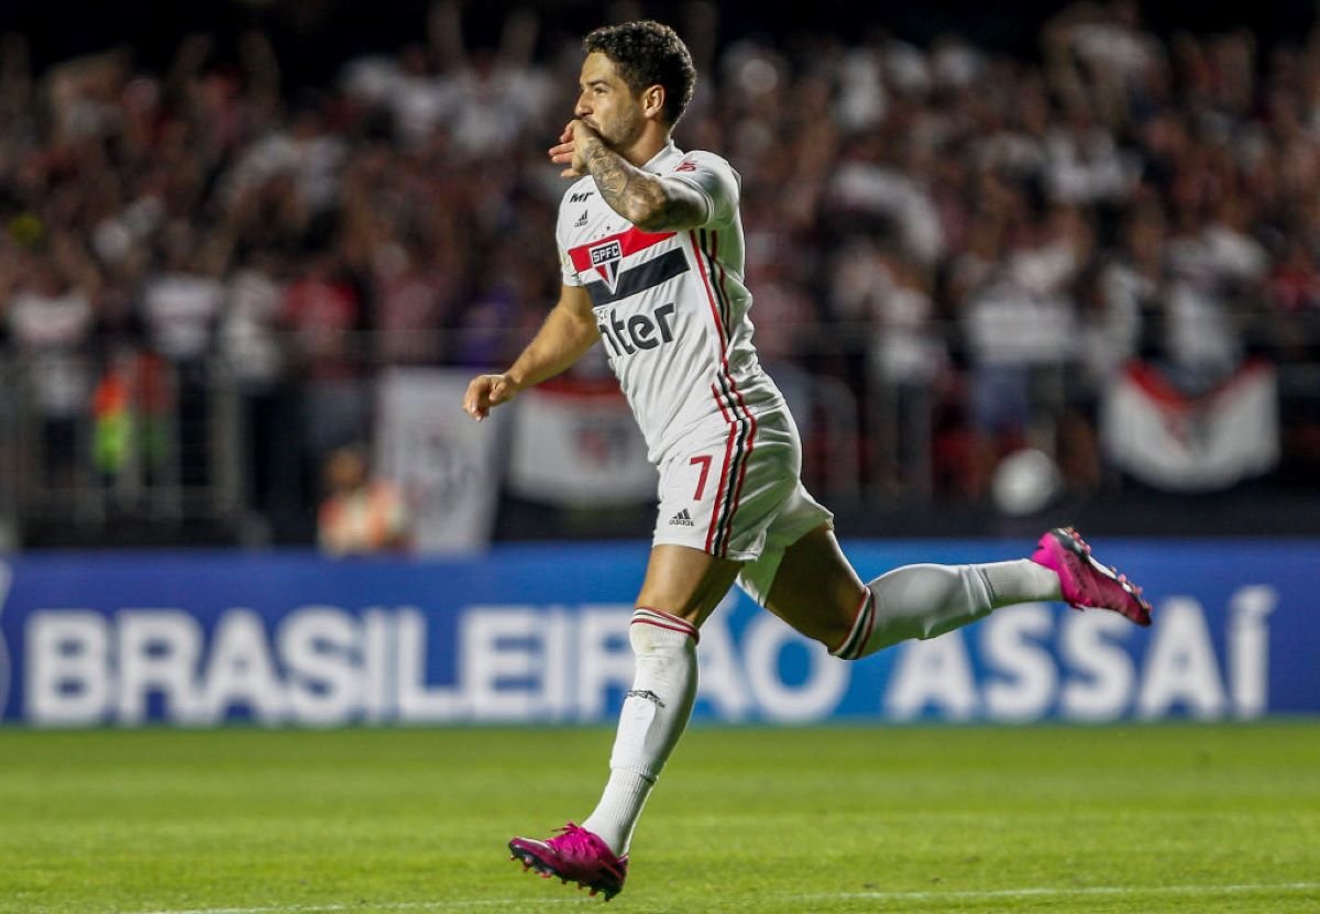
[[[581,826],[510,841],[524,869],[609,899],[692,712],[701,625],[734,582],[845,660],[1018,602],[1064,600],[1138,625],[1150,605],[1069,528],[1041,536],[1030,560],[909,565],[862,582],[833,515],[803,487],[797,429],[756,359],[739,177],[671,140],[696,82],[688,48],[652,21],[599,28],[583,48],[574,118],[549,149],[577,178],[558,214],[560,300],[507,371],[473,379],[463,408],[479,421],[601,341],[660,470],[609,782]]]

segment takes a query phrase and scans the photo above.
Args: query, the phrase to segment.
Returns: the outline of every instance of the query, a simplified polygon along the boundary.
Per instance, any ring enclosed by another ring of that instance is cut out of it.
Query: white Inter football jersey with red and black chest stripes
[[[756,416],[784,409],[762,370],[747,317],[741,178],[709,152],[669,143],[645,170],[682,181],[709,203],[698,228],[645,232],[610,209],[586,176],[560,202],[565,285],[586,287],[610,366],[660,465],[689,436],[752,444]]]

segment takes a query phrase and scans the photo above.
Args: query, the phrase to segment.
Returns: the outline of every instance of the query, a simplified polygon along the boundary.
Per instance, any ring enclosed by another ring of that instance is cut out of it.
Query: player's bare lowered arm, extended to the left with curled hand
[[[463,411],[477,421],[486,419],[491,407],[508,403],[520,390],[566,371],[599,338],[586,287],[565,283],[545,324],[513,365],[502,374],[477,375],[467,384]]]

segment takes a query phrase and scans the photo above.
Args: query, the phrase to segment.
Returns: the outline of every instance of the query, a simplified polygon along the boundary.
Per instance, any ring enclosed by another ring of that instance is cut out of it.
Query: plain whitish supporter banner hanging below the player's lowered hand
[[[508,416],[478,424],[462,411],[470,374],[391,369],[376,388],[376,468],[404,493],[421,555],[486,548],[495,527]]]

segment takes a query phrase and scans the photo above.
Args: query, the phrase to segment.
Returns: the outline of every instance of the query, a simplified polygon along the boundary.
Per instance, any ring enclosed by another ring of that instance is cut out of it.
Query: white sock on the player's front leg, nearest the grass
[[[636,654],[632,688],[623,699],[610,754],[610,781],[582,827],[615,855],[628,852],[632,829],[669,753],[688,726],[697,696],[697,629],[639,606],[628,626]]]

